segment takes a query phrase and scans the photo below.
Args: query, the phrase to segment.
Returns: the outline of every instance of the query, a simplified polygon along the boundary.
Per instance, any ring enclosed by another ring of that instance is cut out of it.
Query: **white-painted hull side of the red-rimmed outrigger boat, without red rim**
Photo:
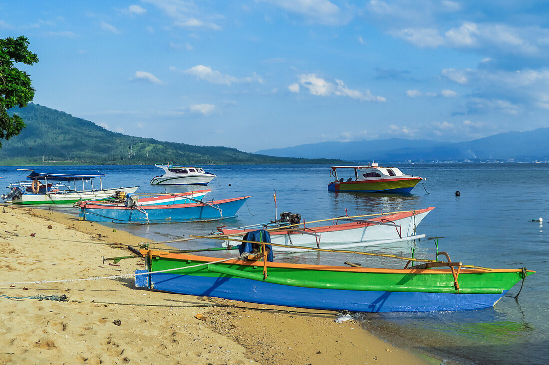
[[[271,242],[287,246],[273,248],[275,251],[296,252],[299,251],[299,249],[292,248],[292,246],[340,249],[348,247],[372,246],[374,244],[382,243],[411,241],[412,239],[425,237],[425,235],[417,235],[416,227],[429,212],[430,210],[426,210],[416,215],[410,215],[406,218],[393,220],[396,225],[401,226],[401,229],[398,231],[394,226],[381,224],[372,224],[357,228],[330,230],[324,232],[315,232],[315,227],[307,227],[307,232],[315,233],[318,236],[300,232],[293,232],[290,234],[276,234],[271,232]],[[338,225],[333,225],[331,227],[337,229]],[[302,226],[298,226],[296,230],[302,230]],[[233,238],[242,239],[242,237],[243,236],[234,236]],[[221,242],[223,247],[238,244],[238,242],[234,241]]]

